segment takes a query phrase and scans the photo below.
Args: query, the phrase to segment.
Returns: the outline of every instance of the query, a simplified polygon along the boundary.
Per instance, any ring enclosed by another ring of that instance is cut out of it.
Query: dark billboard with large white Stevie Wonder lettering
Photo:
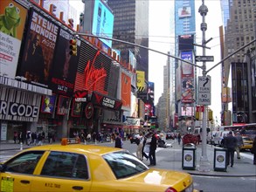
[[[47,87],[59,26],[37,10],[31,10],[19,76]]]

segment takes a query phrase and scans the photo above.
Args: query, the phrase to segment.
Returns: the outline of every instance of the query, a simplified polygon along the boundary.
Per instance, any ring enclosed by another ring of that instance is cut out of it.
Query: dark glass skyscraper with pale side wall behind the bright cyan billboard
[[[114,13],[113,38],[136,45],[149,47],[149,0],[108,0]],[[145,72],[149,81],[149,51],[134,45],[113,42],[113,48],[121,51],[121,58],[127,61],[129,51],[135,54],[136,70]]]

